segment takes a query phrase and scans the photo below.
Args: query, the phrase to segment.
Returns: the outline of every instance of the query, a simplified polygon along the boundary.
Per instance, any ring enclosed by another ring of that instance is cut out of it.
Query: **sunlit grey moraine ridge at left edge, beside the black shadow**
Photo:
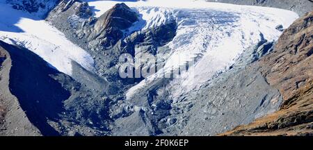
[[[11,56],[0,43],[0,135],[41,135],[9,90]]]

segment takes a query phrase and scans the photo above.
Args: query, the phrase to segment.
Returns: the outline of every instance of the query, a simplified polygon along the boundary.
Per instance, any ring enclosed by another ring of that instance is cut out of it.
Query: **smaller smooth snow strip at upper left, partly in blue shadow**
[[[45,20],[14,10],[3,0],[0,1],[0,18],[0,40],[33,51],[65,74],[72,74],[72,60],[86,69],[93,69],[93,58]]]

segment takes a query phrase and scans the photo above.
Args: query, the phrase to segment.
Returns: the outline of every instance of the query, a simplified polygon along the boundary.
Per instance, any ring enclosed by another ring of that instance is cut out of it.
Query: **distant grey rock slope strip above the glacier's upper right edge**
[[[298,15],[300,16],[305,15],[306,12],[312,11],[313,8],[313,1],[311,0],[206,0],[206,1],[282,8],[297,12]]]

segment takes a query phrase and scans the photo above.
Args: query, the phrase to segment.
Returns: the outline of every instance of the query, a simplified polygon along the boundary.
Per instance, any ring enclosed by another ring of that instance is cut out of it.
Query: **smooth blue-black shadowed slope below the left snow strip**
[[[4,42],[1,42],[1,47],[8,51],[12,60],[10,92],[43,135],[58,135],[47,124],[47,119],[57,119],[58,113],[63,111],[62,101],[70,97],[70,93],[51,77],[59,72],[31,51]]]

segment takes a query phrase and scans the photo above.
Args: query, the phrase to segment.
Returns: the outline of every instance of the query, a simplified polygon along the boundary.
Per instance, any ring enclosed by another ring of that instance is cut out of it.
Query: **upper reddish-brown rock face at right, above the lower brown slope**
[[[285,100],[313,79],[313,12],[296,20],[282,33],[275,50],[261,60],[268,83],[278,88]]]

